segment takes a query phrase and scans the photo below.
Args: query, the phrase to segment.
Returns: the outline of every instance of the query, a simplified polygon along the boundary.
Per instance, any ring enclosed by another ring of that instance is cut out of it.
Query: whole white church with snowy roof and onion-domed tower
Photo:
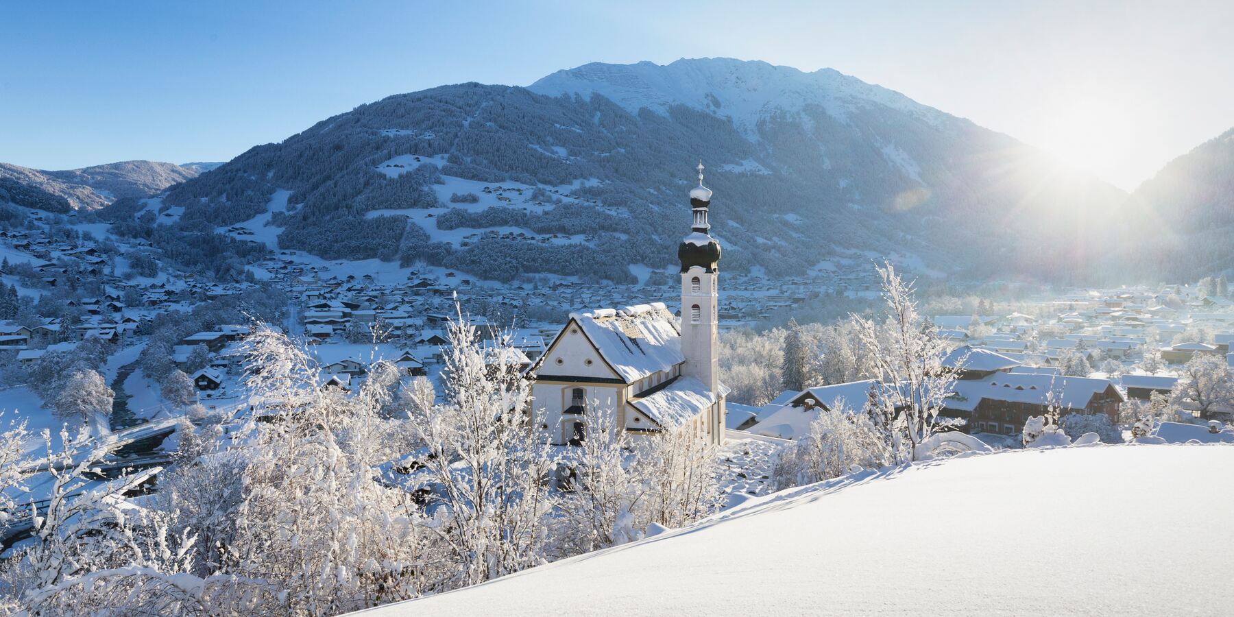
[[[578,445],[592,418],[613,418],[632,436],[690,431],[724,438],[717,317],[719,243],[710,236],[711,189],[690,190],[694,225],[681,239],[681,317],[664,302],[570,313],[528,371],[540,429],[554,444]],[[594,427],[592,427],[594,428]]]

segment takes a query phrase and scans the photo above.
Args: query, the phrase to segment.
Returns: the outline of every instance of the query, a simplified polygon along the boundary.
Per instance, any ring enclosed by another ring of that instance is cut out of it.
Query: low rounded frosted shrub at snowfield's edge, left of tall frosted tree
[[[780,450],[771,479],[782,490],[893,462],[888,442],[868,415],[821,410],[810,432]]]

